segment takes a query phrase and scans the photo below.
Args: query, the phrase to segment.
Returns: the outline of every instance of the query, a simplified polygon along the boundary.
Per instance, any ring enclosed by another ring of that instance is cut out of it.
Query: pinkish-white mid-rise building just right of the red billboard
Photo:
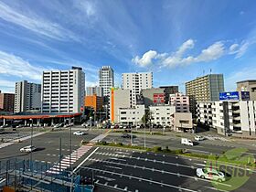
[[[180,92],[170,94],[171,106],[176,106],[176,112],[189,112],[189,97]]]

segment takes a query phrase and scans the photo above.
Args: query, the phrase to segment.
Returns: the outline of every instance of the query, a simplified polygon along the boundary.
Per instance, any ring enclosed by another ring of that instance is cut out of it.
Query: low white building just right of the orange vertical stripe
[[[144,105],[135,105],[133,108],[119,108],[117,123],[142,124],[144,113]]]

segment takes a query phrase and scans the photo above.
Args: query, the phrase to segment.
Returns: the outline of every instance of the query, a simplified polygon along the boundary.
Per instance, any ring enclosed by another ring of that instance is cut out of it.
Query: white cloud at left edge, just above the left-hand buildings
[[[32,66],[28,61],[0,50],[0,74],[22,79],[41,80],[41,66]]]

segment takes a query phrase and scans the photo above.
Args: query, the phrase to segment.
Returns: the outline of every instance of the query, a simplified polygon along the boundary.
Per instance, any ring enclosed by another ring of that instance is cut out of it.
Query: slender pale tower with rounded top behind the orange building
[[[114,87],[113,69],[110,66],[102,66],[99,70],[99,86],[103,88],[103,96],[110,96],[110,89]]]

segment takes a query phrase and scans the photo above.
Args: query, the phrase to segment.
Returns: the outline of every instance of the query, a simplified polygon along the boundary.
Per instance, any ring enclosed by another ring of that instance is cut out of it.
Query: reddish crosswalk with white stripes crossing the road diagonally
[[[70,165],[73,165],[77,162],[82,155],[85,155],[90,149],[92,145],[82,145],[79,149],[72,152],[71,155],[66,155],[57,165],[52,166],[47,173],[49,174],[59,174],[61,171],[69,168]]]

